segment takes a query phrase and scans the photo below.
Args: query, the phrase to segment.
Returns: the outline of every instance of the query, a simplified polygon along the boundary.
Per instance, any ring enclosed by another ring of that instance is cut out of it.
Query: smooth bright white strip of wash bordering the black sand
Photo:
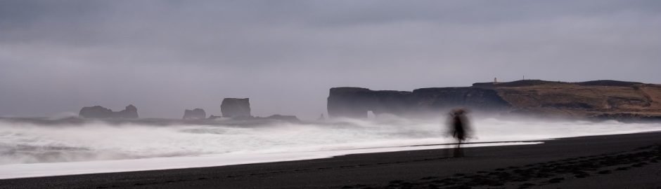
[[[463,146],[466,148],[476,148],[487,146],[534,145],[541,144],[543,142],[544,140],[486,141],[469,142],[465,143]],[[290,162],[298,160],[318,160],[334,158],[342,155],[365,153],[388,153],[399,151],[445,149],[454,148],[454,145],[456,145],[456,143],[384,146],[373,148],[354,148],[349,150],[302,151],[291,153],[256,153],[250,155],[211,154],[199,156],[160,157],[126,160],[97,160],[84,162],[52,162],[0,165],[0,181],[2,179],[27,179],[49,176],[75,176],[81,174],[108,174],[121,172],[158,171],[167,169],[193,169],[271,162]]]

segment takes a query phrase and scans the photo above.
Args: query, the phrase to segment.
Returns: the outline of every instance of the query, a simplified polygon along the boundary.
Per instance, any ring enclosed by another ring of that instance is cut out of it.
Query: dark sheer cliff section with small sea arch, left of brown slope
[[[457,107],[499,110],[507,109],[509,104],[495,90],[478,87],[423,88],[413,92],[335,87],[328,96],[330,117],[366,118],[368,111],[410,116]]]

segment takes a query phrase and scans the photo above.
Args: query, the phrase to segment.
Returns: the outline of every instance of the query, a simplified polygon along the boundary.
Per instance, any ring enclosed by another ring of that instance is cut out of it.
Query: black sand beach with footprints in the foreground
[[[661,132],[145,172],[0,180],[0,188],[661,188]]]

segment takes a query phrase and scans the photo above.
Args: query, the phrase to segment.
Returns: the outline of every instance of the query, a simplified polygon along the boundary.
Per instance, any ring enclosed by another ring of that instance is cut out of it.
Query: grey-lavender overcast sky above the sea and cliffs
[[[0,116],[316,118],[330,87],[661,83],[661,1],[0,1]]]

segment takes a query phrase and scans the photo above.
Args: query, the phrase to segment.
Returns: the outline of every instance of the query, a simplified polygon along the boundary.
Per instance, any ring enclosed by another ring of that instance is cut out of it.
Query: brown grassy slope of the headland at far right
[[[518,113],[617,120],[661,118],[661,85],[617,80],[532,80],[499,83],[493,88]]]

